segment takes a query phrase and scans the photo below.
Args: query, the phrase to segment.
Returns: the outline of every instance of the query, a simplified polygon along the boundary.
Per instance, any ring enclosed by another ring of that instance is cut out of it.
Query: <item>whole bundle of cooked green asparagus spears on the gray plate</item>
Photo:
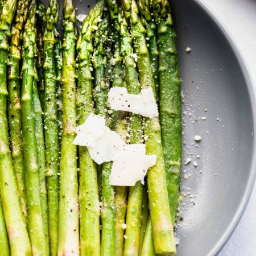
[[[0,11],[2,255],[175,254],[181,93],[168,1],[100,0],[79,31],[64,0],[62,39],[57,0]],[[110,88],[150,88],[159,115],[110,109]],[[112,185],[112,162],[73,144],[90,114],[156,155],[145,184]]]

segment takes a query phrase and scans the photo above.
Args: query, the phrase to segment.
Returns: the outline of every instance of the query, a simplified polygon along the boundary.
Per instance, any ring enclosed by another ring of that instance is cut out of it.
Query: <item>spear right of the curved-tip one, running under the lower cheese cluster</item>
[[[94,101],[96,113],[108,118],[105,67],[107,65],[106,43],[109,36],[109,16],[106,16],[99,24],[94,35],[93,67],[95,76]],[[107,122],[108,123],[108,122]],[[110,123],[109,123],[110,125]],[[102,208],[101,208],[101,255],[114,255],[115,253],[115,209],[114,209],[114,187],[109,184],[109,175],[112,163],[103,163],[101,169],[102,180]]]

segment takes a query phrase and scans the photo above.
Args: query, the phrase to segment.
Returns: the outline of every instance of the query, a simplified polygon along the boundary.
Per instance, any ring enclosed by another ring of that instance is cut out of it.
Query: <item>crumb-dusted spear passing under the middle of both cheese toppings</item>
[[[133,58],[133,48],[130,35],[127,30],[127,22],[120,13],[120,34],[121,34],[121,53],[123,63],[125,65],[126,86],[129,93],[138,94],[141,84],[138,81],[136,64]],[[142,141],[142,119],[140,115],[130,114],[130,143],[141,143]],[[126,240],[125,240],[125,255],[139,254],[139,241],[142,209],[142,184],[138,182],[135,187],[129,188],[129,201],[126,213]],[[134,200],[135,199],[135,200]]]

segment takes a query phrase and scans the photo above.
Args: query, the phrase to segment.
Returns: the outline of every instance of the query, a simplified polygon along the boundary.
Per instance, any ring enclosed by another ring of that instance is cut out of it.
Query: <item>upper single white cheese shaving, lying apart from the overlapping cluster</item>
[[[126,88],[113,87],[109,90],[110,108],[141,114],[144,117],[157,117],[158,106],[151,88],[142,89],[139,94],[130,94]]]

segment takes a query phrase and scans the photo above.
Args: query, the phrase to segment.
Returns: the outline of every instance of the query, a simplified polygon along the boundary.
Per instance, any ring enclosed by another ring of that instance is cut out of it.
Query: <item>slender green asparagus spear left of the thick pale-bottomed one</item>
[[[54,46],[59,19],[59,1],[50,0],[44,30],[44,138],[46,144],[46,176],[48,192],[48,222],[51,255],[57,255],[59,216],[59,130],[56,101],[56,71]]]

